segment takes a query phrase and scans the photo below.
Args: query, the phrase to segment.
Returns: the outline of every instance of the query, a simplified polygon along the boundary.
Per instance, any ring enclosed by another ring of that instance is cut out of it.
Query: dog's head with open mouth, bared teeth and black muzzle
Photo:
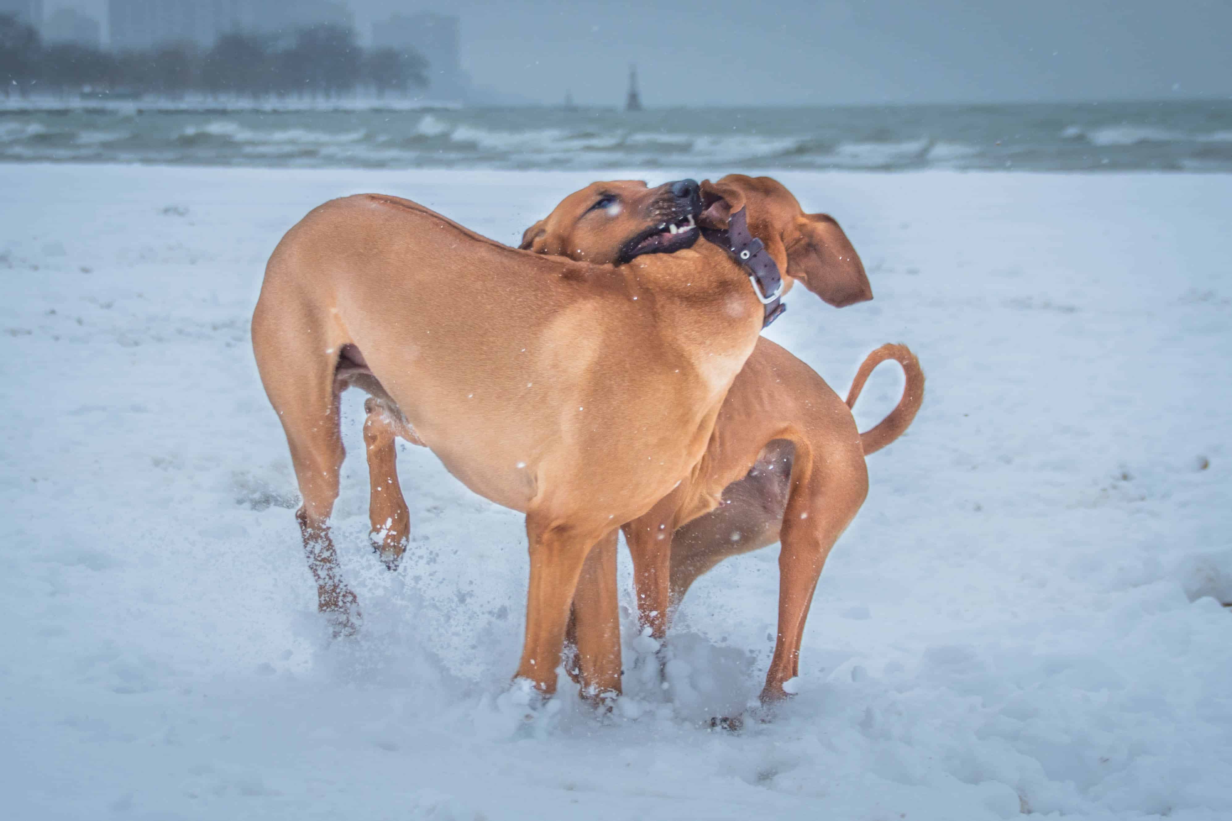
[[[593,182],[522,234],[520,247],[599,263],[690,247],[700,231],[701,187],[692,180]]]

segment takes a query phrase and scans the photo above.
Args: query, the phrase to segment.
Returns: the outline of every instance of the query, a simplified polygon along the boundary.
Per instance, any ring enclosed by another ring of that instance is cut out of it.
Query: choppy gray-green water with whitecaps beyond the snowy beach
[[[1232,103],[935,111],[0,108],[0,161],[453,169],[1232,171]]]

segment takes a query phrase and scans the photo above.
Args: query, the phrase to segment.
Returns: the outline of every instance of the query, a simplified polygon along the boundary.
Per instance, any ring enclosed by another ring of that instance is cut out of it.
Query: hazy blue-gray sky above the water
[[[255,0],[261,1],[261,0]],[[277,1],[277,0],[275,0]],[[47,0],[102,17],[106,0]],[[1232,97],[1230,0],[351,0],[462,20],[479,85],[647,105]]]

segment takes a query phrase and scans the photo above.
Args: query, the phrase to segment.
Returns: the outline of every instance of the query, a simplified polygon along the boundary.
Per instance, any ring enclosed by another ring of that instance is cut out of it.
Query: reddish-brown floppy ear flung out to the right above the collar
[[[798,236],[785,242],[788,277],[835,308],[872,299],[864,263],[833,217],[804,214],[795,228]]]

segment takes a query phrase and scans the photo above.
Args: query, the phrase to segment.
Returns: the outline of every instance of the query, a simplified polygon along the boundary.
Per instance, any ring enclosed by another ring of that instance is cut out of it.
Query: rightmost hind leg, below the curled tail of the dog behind
[[[781,700],[795,689],[786,684],[800,675],[800,644],[817,580],[869,491],[869,473],[857,448],[848,454],[828,451],[818,458],[808,438],[788,438],[796,443],[796,454],[780,531],[779,635],[763,703]]]

